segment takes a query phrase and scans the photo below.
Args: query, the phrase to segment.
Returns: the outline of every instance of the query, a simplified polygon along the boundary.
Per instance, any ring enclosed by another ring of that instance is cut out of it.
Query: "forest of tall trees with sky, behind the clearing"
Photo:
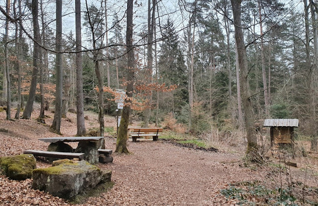
[[[132,109],[143,127],[168,115],[194,135],[245,128],[257,144],[255,122],[299,119],[298,133],[316,149],[314,0],[132,1],[133,13],[126,2],[76,2],[1,6],[6,119],[29,119],[40,102],[39,121],[54,107],[59,133],[77,108],[83,135],[83,111],[92,110],[102,135],[103,115],[116,114],[116,89],[124,89],[123,120]]]

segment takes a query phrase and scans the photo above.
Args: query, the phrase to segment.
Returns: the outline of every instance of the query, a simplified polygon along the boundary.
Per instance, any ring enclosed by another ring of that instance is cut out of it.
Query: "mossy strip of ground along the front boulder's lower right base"
[[[89,197],[97,197],[100,194],[107,192],[115,185],[114,182],[106,182],[98,184],[94,189],[87,191],[85,194],[75,196],[70,200],[72,204],[85,204]]]

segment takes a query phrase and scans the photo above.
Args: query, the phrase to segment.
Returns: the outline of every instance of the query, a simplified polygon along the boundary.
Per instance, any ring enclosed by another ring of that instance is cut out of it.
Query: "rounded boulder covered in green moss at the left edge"
[[[0,157],[0,168],[13,180],[25,180],[32,177],[36,168],[36,160],[32,154],[20,154]]]

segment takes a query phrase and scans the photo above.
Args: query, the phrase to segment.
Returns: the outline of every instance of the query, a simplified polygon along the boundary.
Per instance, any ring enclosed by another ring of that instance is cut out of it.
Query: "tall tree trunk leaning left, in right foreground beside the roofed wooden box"
[[[247,148],[246,155],[252,160],[258,160],[258,145],[257,145],[257,137],[254,129],[254,114],[253,114],[253,106],[250,99],[250,90],[248,83],[248,68],[247,68],[247,56],[246,56],[246,48],[244,44],[244,36],[241,28],[241,11],[240,11],[240,0],[231,0],[232,9],[233,9],[233,19],[235,25],[235,39],[237,43],[238,49],[238,62],[239,62],[239,80],[241,85],[241,97],[243,104],[243,111],[245,114],[244,122],[246,128],[246,138],[247,138]]]

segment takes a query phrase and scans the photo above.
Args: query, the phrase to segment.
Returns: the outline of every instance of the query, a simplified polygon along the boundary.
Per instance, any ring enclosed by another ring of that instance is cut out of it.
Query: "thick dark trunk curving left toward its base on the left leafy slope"
[[[40,41],[40,28],[39,28],[39,21],[38,21],[38,10],[39,10],[39,1],[32,0],[31,8],[32,8],[32,21],[33,21],[33,38],[35,41]],[[31,112],[33,108],[33,102],[35,99],[35,91],[36,91],[36,84],[37,84],[37,75],[38,75],[38,61],[39,61],[39,52],[40,47],[38,44],[33,43],[33,59],[32,59],[32,77],[31,77],[31,85],[28,95],[28,100],[25,105],[25,109],[23,111],[23,119],[30,119]]]

